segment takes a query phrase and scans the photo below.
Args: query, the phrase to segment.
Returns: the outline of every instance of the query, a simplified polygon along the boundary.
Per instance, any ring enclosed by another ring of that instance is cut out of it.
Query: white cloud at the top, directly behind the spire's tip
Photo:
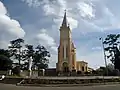
[[[46,2],[44,0],[43,1],[36,0],[36,1],[37,3],[42,3],[43,11],[45,12],[45,15],[52,16],[53,21],[55,21],[56,25],[58,25],[59,27],[63,19],[64,10],[67,9],[68,22],[71,25],[71,28],[72,29],[77,28],[78,25],[77,20],[74,17],[68,15],[71,14],[71,12],[69,12],[69,9],[67,7],[68,2],[66,0],[56,0],[53,3],[51,3],[51,1],[49,0],[45,0]],[[28,3],[28,5],[30,6],[36,5],[36,3],[34,3],[34,0],[27,0],[25,2]]]

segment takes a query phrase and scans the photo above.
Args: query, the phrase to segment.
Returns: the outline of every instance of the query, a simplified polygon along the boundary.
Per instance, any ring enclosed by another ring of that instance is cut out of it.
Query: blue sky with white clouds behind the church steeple
[[[104,66],[100,37],[120,33],[120,0],[0,0],[0,48],[9,41],[44,45],[51,53],[49,67],[57,62],[59,28],[67,12],[77,61],[89,67]],[[110,61],[107,60],[109,63]]]

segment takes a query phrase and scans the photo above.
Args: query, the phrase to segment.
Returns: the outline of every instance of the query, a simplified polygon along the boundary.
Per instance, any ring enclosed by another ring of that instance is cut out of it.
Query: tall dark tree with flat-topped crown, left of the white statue
[[[8,48],[10,49],[11,57],[14,57],[18,60],[19,66],[21,65],[21,57],[22,57],[22,43],[24,43],[24,40],[21,38],[18,38],[16,40],[10,41],[11,46]]]

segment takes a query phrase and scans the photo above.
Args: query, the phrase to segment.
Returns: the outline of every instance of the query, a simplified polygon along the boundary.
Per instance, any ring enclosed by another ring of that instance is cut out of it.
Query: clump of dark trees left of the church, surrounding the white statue
[[[38,67],[38,69],[46,69],[49,63],[50,53],[44,46],[38,45],[36,48],[33,45],[25,45],[26,49],[23,48],[24,40],[19,38],[10,41],[11,46],[9,46],[10,57],[19,61],[19,66],[22,69],[28,69],[29,59],[33,58],[33,66]],[[24,61],[24,64],[21,64]]]

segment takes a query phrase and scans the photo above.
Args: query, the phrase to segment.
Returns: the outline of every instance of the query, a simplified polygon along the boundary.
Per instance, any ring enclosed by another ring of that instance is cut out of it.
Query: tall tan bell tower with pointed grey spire
[[[65,11],[63,22],[59,31],[60,31],[60,44],[58,47],[57,71],[72,72],[72,70],[76,68],[75,66],[76,61],[75,61],[75,55],[72,52],[74,51],[73,50],[74,45],[71,39],[71,30],[67,22],[66,11]]]

